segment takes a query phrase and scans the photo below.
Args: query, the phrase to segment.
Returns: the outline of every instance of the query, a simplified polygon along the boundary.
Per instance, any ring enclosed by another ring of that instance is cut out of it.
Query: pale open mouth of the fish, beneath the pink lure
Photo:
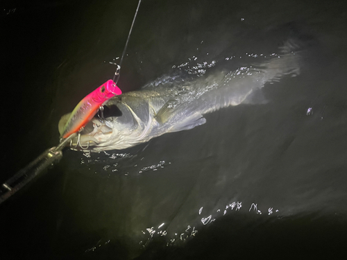
[[[112,128],[108,121],[101,121],[94,117],[87,123],[83,130],[70,142],[71,150],[92,150],[96,146],[109,139],[112,135]]]

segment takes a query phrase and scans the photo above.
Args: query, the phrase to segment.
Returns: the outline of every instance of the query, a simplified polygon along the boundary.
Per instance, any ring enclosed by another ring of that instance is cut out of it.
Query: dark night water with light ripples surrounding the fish
[[[56,146],[60,116],[112,77],[136,6],[1,2],[1,182]],[[145,0],[124,92],[193,56],[237,69],[246,53],[276,53],[288,38],[303,42],[301,74],[266,85],[265,104],[224,108],[193,130],[108,154],[67,150],[0,206],[1,259],[343,258],[346,10],[344,1]]]

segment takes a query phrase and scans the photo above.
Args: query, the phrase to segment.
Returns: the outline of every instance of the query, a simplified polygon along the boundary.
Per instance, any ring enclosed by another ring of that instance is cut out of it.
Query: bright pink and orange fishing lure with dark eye
[[[71,112],[60,138],[67,138],[74,132],[83,129],[105,101],[120,94],[121,89],[117,87],[116,83],[113,80],[108,80],[94,92],[85,96]]]

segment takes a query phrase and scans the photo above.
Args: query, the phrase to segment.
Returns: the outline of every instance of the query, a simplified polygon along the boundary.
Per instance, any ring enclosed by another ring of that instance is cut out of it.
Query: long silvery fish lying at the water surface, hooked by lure
[[[165,133],[189,130],[206,122],[204,114],[221,107],[254,103],[252,95],[266,83],[300,73],[300,55],[282,51],[263,62],[207,77],[162,77],[139,91],[106,101],[106,119],[95,116],[71,149],[85,152],[121,150]],[[68,115],[60,120],[64,124]],[[60,132],[62,134],[62,132]]]

